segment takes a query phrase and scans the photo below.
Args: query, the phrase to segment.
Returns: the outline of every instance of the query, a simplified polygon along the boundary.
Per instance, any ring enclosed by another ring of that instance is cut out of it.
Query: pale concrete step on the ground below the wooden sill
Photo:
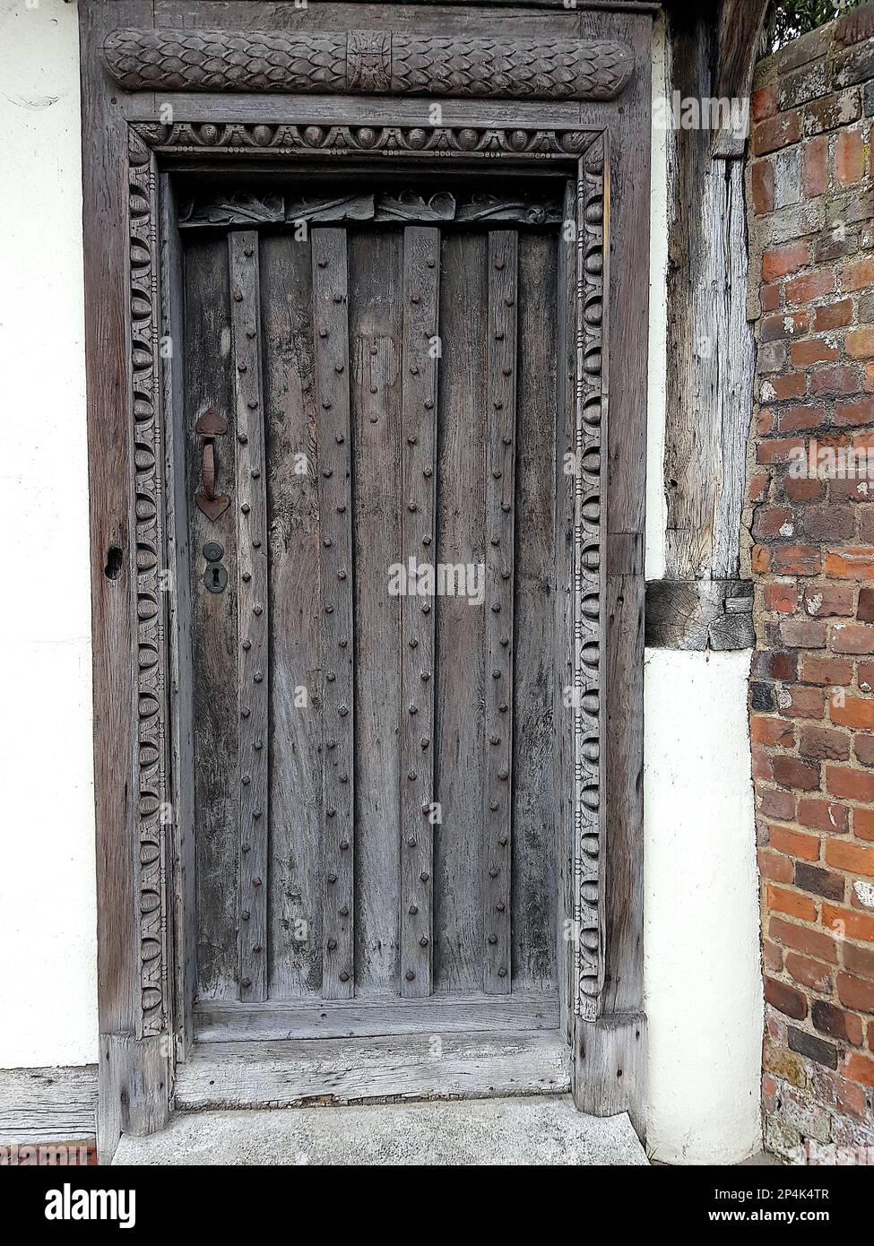
[[[569,1095],[177,1114],[122,1138],[113,1164],[646,1165],[627,1115]]]

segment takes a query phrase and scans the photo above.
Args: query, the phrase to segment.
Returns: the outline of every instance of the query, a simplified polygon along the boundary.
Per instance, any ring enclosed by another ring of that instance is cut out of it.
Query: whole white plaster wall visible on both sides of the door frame
[[[0,49],[4,1068],[96,1060],[97,1015],[75,5],[0,0]],[[650,578],[665,564],[666,184],[656,135]],[[647,653],[648,1133],[672,1163],[731,1163],[759,1143],[748,660]]]

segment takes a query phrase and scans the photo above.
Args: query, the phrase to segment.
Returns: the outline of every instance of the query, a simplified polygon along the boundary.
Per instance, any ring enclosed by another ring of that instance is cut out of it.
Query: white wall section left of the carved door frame
[[[2,1068],[96,1060],[97,1004],[76,6],[0,50]]]

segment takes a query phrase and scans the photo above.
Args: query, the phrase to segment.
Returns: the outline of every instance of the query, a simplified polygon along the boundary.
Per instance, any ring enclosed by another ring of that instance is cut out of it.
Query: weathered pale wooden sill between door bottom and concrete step
[[[557,1030],[196,1043],[176,1067],[176,1108],[300,1108],[385,1099],[566,1094]]]

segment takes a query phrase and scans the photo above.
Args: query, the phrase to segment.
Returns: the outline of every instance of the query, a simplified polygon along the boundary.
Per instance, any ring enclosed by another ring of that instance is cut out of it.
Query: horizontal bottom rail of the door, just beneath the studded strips
[[[399,1034],[520,1034],[559,1029],[556,992],[510,996],[396,996],[364,999],[300,1001],[292,1004],[194,1004],[198,1043],[277,1042],[287,1038],[377,1038]]]

